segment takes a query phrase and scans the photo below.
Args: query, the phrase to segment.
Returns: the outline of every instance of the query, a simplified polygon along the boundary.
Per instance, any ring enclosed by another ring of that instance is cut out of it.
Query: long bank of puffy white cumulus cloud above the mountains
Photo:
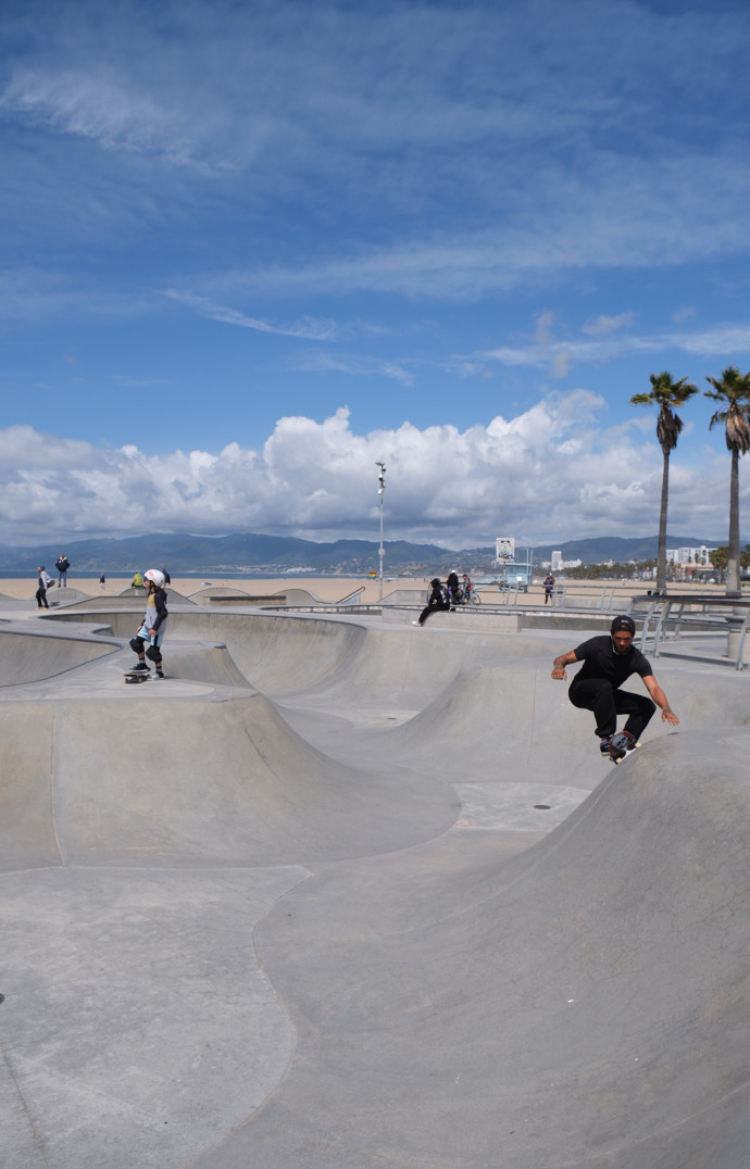
[[[154,526],[377,539],[378,461],[387,465],[386,539],[460,548],[502,532],[531,545],[655,532],[659,448],[635,421],[603,428],[604,409],[578,389],[463,431],[405,422],[359,435],[340,408],[323,422],[282,417],[262,449],[229,443],[218,454],[105,450],[12,427],[0,431],[0,539],[60,542]],[[673,463],[670,528],[721,533],[727,461],[707,451],[700,465]]]

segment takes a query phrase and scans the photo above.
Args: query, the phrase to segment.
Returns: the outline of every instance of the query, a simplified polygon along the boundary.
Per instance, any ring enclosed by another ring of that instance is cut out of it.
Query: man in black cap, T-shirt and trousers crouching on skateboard
[[[676,726],[680,721],[654,678],[651,662],[633,645],[634,636],[633,618],[615,617],[608,635],[591,637],[574,650],[562,653],[555,658],[552,666],[552,677],[564,682],[567,678],[565,666],[572,665],[573,662],[583,662],[582,669],[570,684],[567,697],[573,706],[593,712],[603,755],[610,754],[610,739],[617,731],[618,714],[627,714],[624,729],[629,732],[635,741],[640,739],[656,706],[661,708],[662,722]],[[633,673],[640,676],[651,698],[620,690],[622,683]]]

